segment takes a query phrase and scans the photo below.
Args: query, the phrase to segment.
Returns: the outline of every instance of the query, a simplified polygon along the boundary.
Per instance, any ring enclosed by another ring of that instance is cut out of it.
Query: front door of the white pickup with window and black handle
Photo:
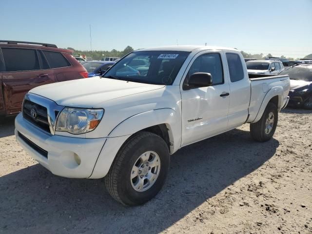
[[[210,73],[213,85],[183,90],[182,98],[182,143],[181,146],[212,137],[228,129],[230,104],[229,81],[223,72],[221,52],[201,52],[188,66],[183,84],[196,72]],[[183,79],[182,79],[183,80]]]

